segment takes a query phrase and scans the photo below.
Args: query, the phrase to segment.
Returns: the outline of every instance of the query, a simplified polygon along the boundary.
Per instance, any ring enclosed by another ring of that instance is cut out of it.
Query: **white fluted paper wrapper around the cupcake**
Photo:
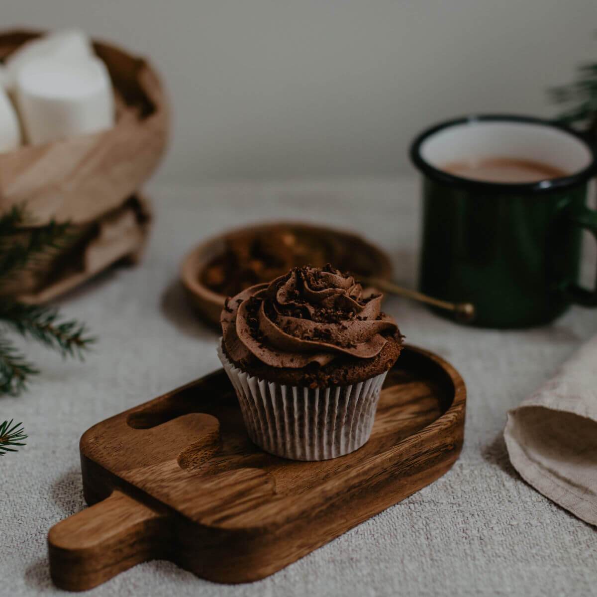
[[[351,386],[287,386],[241,371],[218,356],[238,396],[251,441],[292,460],[328,460],[367,442],[386,373]]]

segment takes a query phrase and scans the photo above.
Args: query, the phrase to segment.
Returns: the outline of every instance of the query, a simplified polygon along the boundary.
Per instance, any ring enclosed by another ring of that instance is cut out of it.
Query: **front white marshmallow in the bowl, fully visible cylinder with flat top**
[[[95,133],[114,124],[112,83],[97,58],[78,63],[29,60],[19,70],[16,98],[29,143]]]

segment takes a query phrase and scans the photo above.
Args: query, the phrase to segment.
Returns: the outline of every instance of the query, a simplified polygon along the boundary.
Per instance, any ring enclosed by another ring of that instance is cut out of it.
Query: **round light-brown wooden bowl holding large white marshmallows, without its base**
[[[41,35],[0,34],[0,59]],[[26,202],[42,225],[52,218],[82,224],[120,207],[153,173],[168,137],[168,104],[146,60],[101,42],[116,96],[113,128],[0,153],[0,211]]]

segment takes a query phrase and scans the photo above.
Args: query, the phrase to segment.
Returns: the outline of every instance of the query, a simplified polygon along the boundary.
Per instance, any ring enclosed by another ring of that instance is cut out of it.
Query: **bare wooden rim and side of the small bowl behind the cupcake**
[[[264,233],[288,232],[290,235],[301,239],[305,237],[320,238],[322,242],[333,241],[346,247],[346,253],[355,255],[355,267],[349,267],[356,275],[367,275],[375,278],[390,279],[392,277],[392,263],[389,256],[379,247],[371,244],[362,236],[344,230],[336,230],[327,226],[297,223],[294,221],[270,222],[245,226],[213,236],[201,242],[184,257],[180,275],[187,296],[199,315],[210,324],[219,325],[220,313],[224,306],[226,296],[219,294],[202,282],[206,266],[226,250],[230,239],[243,235],[263,235]],[[323,265],[324,263],[313,263]],[[333,263],[334,264],[334,263]]]

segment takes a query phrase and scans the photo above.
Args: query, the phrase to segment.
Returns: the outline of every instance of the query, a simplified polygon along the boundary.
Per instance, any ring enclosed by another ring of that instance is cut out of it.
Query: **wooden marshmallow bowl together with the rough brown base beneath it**
[[[0,60],[39,35],[21,30],[0,34]],[[81,232],[59,255],[39,262],[3,289],[32,302],[53,298],[122,257],[137,256],[149,230],[147,205],[137,191],[164,154],[167,99],[146,60],[100,42],[94,43],[94,49],[106,63],[115,88],[115,126],[0,153],[0,212],[25,204],[34,219],[32,226],[51,219],[69,220]],[[131,208],[131,201],[136,208]],[[121,219],[120,227],[112,226],[115,217]],[[122,224],[122,217],[128,225]],[[106,226],[112,232],[106,233]],[[117,229],[129,238],[122,238]],[[65,259],[73,257],[73,251],[79,261],[74,268]],[[61,271],[55,271],[57,267]],[[69,282],[65,276],[76,278]]]

